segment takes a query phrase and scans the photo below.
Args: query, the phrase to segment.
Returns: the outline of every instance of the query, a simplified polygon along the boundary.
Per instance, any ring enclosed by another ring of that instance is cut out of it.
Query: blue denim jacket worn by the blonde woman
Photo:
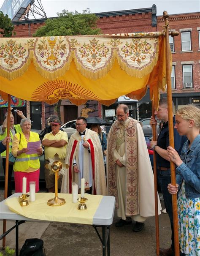
[[[176,183],[181,186],[185,181],[186,198],[200,197],[200,134],[189,148],[189,140],[181,151],[183,163],[176,168]],[[180,188],[180,187],[179,187]]]

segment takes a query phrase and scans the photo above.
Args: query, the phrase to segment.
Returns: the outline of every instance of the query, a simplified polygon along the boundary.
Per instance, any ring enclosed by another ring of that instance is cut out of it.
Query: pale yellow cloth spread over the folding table
[[[48,200],[54,198],[54,196],[54,193],[36,193],[35,202],[29,202],[29,205],[25,207],[19,204],[18,197],[7,199],[5,204],[8,205],[11,211],[27,218],[91,225],[95,212],[103,198],[103,196],[85,194],[88,199],[86,202],[87,210],[80,211],[77,209],[78,201],[77,203],[72,202],[72,194],[58,194],[58,197],[64,198],[66,201],[62,206],[52,207],[47,205]]]

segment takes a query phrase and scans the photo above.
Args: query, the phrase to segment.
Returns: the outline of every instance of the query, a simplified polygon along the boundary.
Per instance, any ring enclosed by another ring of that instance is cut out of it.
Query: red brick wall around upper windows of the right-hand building
[[[162,16],[157,16],[157,30],[161,31],[164,24]],[[197,28],[200,27],[200,13],[176,14],[170,15],[169,27],[176,30],[180,35],[174,37],[174,50],[172,54],[173,63],[175,64],[176,89],[174,93],[194,93],[200,92],[200,49],[199,35]],[[183,29],[192,29],[191,32],[191,52],[181,52],[181,32]],[[200,28],[199,28],[200,29]],[[193,88],[183,88],[183,63],[192,64],[192,82]]]

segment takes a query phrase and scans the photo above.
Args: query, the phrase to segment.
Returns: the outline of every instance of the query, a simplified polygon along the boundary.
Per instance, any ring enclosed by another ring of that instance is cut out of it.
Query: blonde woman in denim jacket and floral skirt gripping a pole
[[[186,135],[181,155],[168,147],[170,161],[176,164],[176,185],[168,185],[171,194],[178,193],[179,243],[186,256],[200,256],[200,109],[187,105],[176,112],[180,135]]]

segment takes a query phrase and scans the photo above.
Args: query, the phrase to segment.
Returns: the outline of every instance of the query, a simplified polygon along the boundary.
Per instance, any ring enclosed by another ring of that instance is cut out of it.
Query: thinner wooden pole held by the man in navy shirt
[[[154,100],[152,100],[152,117],[154,114]],[[156,125],[152,125],[153,141],[156,141]],[[155,223],[156,223],[156,256],[159,256],[159,220],[158,220],[158,192],[157,192],[157,168],[156,168],[156,153],[154,150],[154,197],[155,197]]]

